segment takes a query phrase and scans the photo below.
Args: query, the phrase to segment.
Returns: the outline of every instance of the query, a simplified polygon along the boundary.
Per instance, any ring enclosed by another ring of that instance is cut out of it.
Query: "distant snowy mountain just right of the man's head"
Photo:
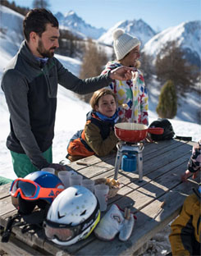
[[[72,34],[79,36],[81,39],[98,39],[106,31],[103,28],[97,29],[85,23],[82,18],[76,15],[75,11],[69,11],[66,15],[57,12],[55,16],[61,29],[70,30]]]

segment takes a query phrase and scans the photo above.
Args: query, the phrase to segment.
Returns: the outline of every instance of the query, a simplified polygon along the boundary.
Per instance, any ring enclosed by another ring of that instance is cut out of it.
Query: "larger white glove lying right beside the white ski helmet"
[[[116,204],[112,204],[109,211],[103,216],[94,234],[100,240],[109,241],[115,238],[115,235],[121,230],[124,223],[124,217]]]

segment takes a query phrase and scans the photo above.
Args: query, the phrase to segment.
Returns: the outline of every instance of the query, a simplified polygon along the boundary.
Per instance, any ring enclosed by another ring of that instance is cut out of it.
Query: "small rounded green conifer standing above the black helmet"
[[[162,118],[174,118],[176,116],[176,87],[172,80],[167,80],[167,83],[162,86],[156,111],[158,116]]]

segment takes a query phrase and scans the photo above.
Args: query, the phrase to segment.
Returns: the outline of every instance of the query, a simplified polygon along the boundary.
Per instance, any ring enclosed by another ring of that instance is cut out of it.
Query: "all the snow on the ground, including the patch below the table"
[[[2,70],[4,66],[13,57],[18,48],[19,40],[14,40],[18,19],[22,20],[22,16],[16,12],[0,8],[0,15],[4,17],[2,20],[2,27],[6,28],[7,33],[2,34],[0,31],[0,82],[2,77]],[[16,20],[17,19],[17,20]],[[15,21],[15,22],[9,22]],[[17,22],[16,22],[17,21]],[[16,26],[15,26],[16,25]],[[13,37],[11,39],[11,36]],[[102,46],[103,47],[103,46]],[[66,66],[69,71],[75,75],[79,75],[81,62],[71,57],[64,57],[55,55],[63,66]],[[158,82],[153,81],[148,84],[149,94],[149,123],[158,119],[155,108],[158,104]],[[190,93],[187,98],[180,98],[180,107],[178,107],[177,115],[170,120],[176,135],[192,136],[194,141],[198,141],[201,137],[201,128],[199,121],[196,119],[195,113],[200,109],[200,98],[196,93]],[[55,125],[55,138],[53,140],[53,162],[60,162],[66,157],[66,146],[74,135],[76,130],[83,129],[85,126],[85,115],[89,112],[90,106],[87,103],[80,101],[79,98],[71,91],[59,86],[57,94],[57,116]],[[2,89],[0,89],[0,176],[15,179],[16,175],[12,170],[11,155],[6,147],[6,139],[9,132],[9,113],[7,110],[7,103],[5,101]],[[168,242],[168,234],[170,233],[170,226],[154,235],[152,240],[148,242],[148,249],[143,255],[165,255],[170,252],[170,244]]]

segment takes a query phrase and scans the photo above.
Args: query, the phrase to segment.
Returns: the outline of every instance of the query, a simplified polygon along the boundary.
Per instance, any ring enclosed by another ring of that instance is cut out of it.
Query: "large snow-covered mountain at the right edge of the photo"
[[[145,43],[143,52],[153,57],[153,64],[158,53],[167,43],[176,41],[178,47],[185,52],[190,63],[200,66],[201,58],[201,21],[183,22],[156,34]]]

